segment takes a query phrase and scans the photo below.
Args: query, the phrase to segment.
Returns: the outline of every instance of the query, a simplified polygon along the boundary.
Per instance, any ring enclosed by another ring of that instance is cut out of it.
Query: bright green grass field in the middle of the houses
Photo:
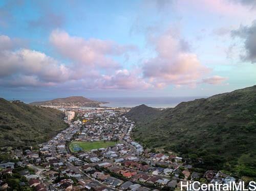
[[[83,141],[72,141],[69,145],[71,152],[80,151],[76,148],[81,148],[82,151],[90,151],[92,149],[100,149],[106,147],[113,147],[116,145],[115,141],[95,141],[95,142],[83,142]]]

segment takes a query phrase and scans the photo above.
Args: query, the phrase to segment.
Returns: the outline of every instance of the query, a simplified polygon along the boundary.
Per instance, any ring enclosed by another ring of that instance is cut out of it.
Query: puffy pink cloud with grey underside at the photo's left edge
[[[5,50],[0,52],[0,60],[0,78],[11,85],[26,86],[35,84],[36,81],[52,84],[70,79],[69,70],[65,65],[38,51]],[[11,81],[13,83],[10,83]]]

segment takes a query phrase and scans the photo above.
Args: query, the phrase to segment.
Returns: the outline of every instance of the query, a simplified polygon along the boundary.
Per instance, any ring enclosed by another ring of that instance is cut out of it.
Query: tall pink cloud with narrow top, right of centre
[[[189,52],[188,43],[179,34],[168,30],[151,40],[157,56],[143,65],[143,75],[156,87],[190,85],[210,70],[202,65],[196,54]]]

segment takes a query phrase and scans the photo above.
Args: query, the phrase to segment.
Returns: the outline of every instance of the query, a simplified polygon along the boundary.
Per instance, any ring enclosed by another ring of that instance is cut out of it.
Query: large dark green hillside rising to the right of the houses
[[[200,168],[256,177],[256,86],[161,111],[141,105],[126,116],[136,121],[134,139],[147,148],[178,152]]]

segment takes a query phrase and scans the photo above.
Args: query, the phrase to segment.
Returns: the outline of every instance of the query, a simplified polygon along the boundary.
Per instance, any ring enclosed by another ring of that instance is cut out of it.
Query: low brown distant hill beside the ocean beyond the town
[[[100,104],[107,102],[98,102],[84,98],[82,96],[71,96],[68,98],[57,98],[50,101],[32,102],[31,105],[44,105],[44,106],[84,106],[84,107],[99,107]]]

